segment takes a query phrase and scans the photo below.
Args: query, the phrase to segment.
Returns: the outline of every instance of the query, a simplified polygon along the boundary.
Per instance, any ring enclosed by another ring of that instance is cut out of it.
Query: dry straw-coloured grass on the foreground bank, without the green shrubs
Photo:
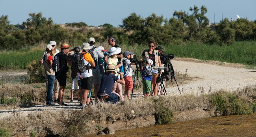
[[[219,91],[224,92],[224,91]],[[115,121],[127,121],[135,117],[148,117],[158,114],[160,105],[166,110],[182,111],[193,110],[195,108],[210,109],[213,106],[211,97],[217,93],[209,95],[201,94],[200,96],[193,94],[185,94],[182,96],[164,96],[142,98],[137,97],[133,100],[118,103],[117,105],[99,102],[98,106],[87,107],[85,110],[76,111],[38,111],[32,112],[28,116],[16,115],[2,119],[2,128],[8,129],[12,127],[13,134],[30,135],[36,133],[38,136],[44,135],[66,135],[66,136],[82,136],[90,129],[88,126],[92,121],[96,123]],[[256,102],[256,85],[245,87],[232,93],[237,99],[243,98],[248,101]],[[134,110],[134,114],[132,114]]]

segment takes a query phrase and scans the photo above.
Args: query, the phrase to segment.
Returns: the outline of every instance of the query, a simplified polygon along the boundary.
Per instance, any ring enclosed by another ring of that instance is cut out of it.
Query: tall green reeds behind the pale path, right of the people
[[[215,60],[227,63],[241,63],[253,68],[256,65],[256,41],[236,41],[233,45],[205,45],[188,43],[186,45],[164,46],[166,53],[176,57]]]

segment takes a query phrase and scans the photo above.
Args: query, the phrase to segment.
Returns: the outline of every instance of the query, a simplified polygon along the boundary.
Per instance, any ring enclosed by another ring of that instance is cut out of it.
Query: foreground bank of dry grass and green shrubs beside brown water
[[[105,128],[106,123],[107,126],[123,126],[136,117],[148,119],[154,116],[154,124],[171,124],[175,122],[174,112],[213,108],[214,115],[242,115],[255,113],[255,106],[256,85],[234,92],[220,90],[200,96],[186,94],[144,99],[138,97],[117,105],[100,102],[98,106],[88,107],[84,111],[43,110],[28,116],[17,115],[2,119],[0,130],[4,135],[16,136],[83,136]]]

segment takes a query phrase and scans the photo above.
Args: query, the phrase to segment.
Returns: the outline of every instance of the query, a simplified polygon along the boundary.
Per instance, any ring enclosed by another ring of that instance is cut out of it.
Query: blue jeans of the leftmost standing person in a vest
[[[46,96],[46,105],[50,105],[52,103],[52,96],[53,96],[53,87],[54,87],[54,79],[55,75],[46,75],[48,81],[48,89],[47,89],[47,96]]]

